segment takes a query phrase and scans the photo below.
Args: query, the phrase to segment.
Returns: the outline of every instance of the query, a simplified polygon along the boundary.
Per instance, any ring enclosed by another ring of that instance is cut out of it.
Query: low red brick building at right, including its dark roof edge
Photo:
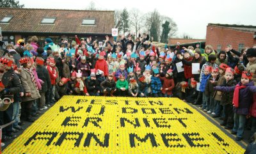
[[[231,44],[235,50],[252,47],[256,44],[256,26],[208,24],[206,45],[212,45],[218,52]]]

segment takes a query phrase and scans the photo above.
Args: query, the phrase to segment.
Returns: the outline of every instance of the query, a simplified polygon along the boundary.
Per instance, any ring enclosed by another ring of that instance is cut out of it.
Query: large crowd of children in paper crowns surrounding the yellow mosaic
[[[102,47],[91,37],[75,38],[58,45],[46,38],[40,47],[33,36],[0,46],[0,125],[15,121],[3,129],[3,141],[15,138],[22,121],[35,121],[63,95],[177,96],[223,118],[220,125],[231,129],[237,141],[248,121],[255,132],[255,48],[238,52],[227,45],[217,53],[211,45],[187,49],[177,43],[170,49],[156,47],[147,34],[120,35],[114,41],[106,36]]]

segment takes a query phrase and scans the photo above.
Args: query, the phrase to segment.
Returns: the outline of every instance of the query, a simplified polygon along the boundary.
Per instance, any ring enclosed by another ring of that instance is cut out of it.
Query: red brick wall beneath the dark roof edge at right
[[[253,44],[256,44],[256,39],[253,39],[253,35],[254,32],[207,26],[205,45],[212,45],[214,50],[217,50],[218,45],[221,45],[221,50],[225,50],[226,45],[231,44],[233,49],[238,50],[239,43],[243,43],[244,47],[252,47]]]

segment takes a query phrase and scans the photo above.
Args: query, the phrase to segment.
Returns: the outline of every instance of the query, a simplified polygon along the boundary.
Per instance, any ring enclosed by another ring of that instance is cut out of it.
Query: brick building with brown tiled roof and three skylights
[[[6,44],[15,44],[20,38],[28,40],[36,35],[38,43],[44,45],[47,37],[58,43],[61,38],[71,42],[77,35],[102,41],[106,35],[111,36],[114,14],[114,11],[0,8],[2,39]]]

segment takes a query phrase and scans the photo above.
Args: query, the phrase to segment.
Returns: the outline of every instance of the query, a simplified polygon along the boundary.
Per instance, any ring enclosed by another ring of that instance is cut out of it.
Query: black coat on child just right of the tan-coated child
[[[44,84],[42,84],[42,89],[40,90],[40,92],[45,93],[48,89],[51,89],[52,87],[49,72],[47,71],[46,68],[44,68],[44,66],[38,65],[36,67],[36,73],[37,73],[38,79],[41,79],[42,81],[44,81]]]

